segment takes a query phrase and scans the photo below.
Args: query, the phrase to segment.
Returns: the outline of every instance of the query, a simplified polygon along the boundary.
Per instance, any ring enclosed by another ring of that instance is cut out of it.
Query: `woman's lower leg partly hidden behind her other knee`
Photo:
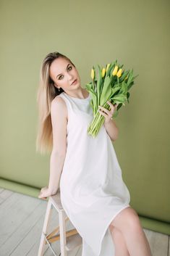
[[[112,225],[110,225],[109,228],[111,231],[112,239],[114,241],[115,256],[129,256],[127,244],[124,241],[124,236],[122,235],[122,232]]]

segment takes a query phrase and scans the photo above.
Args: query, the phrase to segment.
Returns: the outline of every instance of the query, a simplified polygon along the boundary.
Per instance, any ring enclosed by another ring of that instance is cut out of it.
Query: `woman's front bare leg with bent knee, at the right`
[[[130,256],[152,256],[139,216],[132,207],[119,212],[110,225],[122,232]]]

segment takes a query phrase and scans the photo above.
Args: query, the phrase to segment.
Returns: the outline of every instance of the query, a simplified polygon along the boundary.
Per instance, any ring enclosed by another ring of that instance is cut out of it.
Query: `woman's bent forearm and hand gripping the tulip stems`
[[[119,129],[116,126],[115,120],[111,119],[111,117],[114,115],[114,111],[118,104],[113,105],[111,104],[111,102],[107,103],[110,105],[111,110],[106,110],[105,107],[99,106],[98,111],[101,113],[101,115],[105,117],[104,126],[106,128],[107,133],[109,134],[109,137],[111,138],[111,141],[116,141],[116,139],[118,138]]]

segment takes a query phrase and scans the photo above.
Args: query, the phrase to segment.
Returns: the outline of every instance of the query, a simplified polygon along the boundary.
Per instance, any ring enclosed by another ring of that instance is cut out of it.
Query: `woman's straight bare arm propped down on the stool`
[[[57,97],[51,102],[53,149],[50,158],[48,191],[51,195],[59,189],[59,181],[67,151],[67,106],[64,99]]]

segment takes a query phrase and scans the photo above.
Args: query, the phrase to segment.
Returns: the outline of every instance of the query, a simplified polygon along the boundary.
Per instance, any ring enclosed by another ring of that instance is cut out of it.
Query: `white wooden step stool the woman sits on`
[[[51,215],[51,207],[54,207],[59,213],[59,226],[51,232],[51,234],[46,234],[48,223]],[[54,196],[48,197],[48,204],[46,208],[46,216],[43,223],[43,231],[41,234],[41,242],[38,249],[38,256],[43,256],[43,249],[45,244],[48,244],[51,251],[54,253],[54,249],[51,247],[51,243],[60,240],[61,256],[67,256],[67,251],[75,249],[75,247],[80,247],[82,245],[82,237],[78,234],[77,230],[74,228],[72,230],[66,231],[66,221],[69,220],[66,212],[61,205],[60,191]],[[55,235],[55,234],[58,235]]]

